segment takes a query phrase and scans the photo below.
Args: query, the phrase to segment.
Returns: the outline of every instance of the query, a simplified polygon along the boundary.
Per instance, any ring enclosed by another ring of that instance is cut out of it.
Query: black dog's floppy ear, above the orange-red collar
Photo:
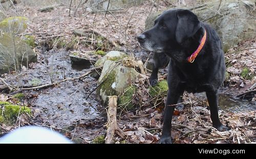
[[[186,38],[193,36],[201,28],[201,24],[197,16],[189,10],[177,10],[176,15],[176,40],[182,43]]]

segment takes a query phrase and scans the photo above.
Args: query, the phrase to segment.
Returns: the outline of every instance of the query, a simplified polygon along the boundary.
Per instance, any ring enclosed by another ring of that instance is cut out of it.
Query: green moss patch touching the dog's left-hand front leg
[[[150,95],[151,97],[155,97],[158,95],[166,95],[168,91],[168,83],[166,80],[158,82],[158,84],[154,87],[150,87]]]

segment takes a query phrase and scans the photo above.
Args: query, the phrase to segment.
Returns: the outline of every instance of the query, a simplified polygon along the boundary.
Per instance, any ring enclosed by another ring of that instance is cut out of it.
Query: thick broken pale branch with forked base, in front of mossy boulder
[[[112,144],[115,132],[124,138],[124,132],[117,126],[116,121],[117,96],[109,96],[108,130],[106,130],[105,144]]]

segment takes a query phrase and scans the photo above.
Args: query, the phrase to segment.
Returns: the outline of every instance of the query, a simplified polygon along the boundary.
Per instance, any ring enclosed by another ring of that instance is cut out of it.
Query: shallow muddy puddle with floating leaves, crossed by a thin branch
[[[34,76],[42,83],[49,83],[51,79],[56,82],[63,77],[78,77],[90,67],[72,64],[67,52],[47,52],[40,58],[44,64],[34,66],[41,70]],[[38,95],[32,102],[36,121],[40,125],[65,127],[97,119],[100,116],[100,104],[95,101],[94,93],[86,99],[96,86],[97,81],[87,76],[80,80],[62,82],[47,89],[28,92]]]

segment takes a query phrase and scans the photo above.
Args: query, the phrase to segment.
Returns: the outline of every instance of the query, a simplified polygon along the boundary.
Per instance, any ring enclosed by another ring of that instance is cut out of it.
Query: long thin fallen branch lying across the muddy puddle
[[[101,69],[101,68],[102,68],[102,66],[93,67],[93,68],[90,69],[87,73],[84,73],[84,74],[82,74],[82,75],[79,76],[79,77],[75,77],[75,78],[66,78],[66,79],[63,79],[63,80],[61,80],[61,81],[54,82],[54,83],[51,83],[51,84],[44,84],[44,85],[35,86],[35,87],[26,87],[26,88],[24,87],[24,88],[21,88],[21,89],[19,89],[19,90],[16,90],[15,92],[13,92],[13,93],[11,93],[11,94],[9,94],[9,95],[13,95],[13,94],[22,92],[23,90],[46,88],[46,87],[50,87],[50,86],[53,86],[53,85],[57,85],[57,84],[59,84],[59,83],[65,82],[65,81],[77,80],[77,79],[86,77],[86,76],[90,75],[91,73],[93,73],[95,70],[99,70],[99,69]]]

